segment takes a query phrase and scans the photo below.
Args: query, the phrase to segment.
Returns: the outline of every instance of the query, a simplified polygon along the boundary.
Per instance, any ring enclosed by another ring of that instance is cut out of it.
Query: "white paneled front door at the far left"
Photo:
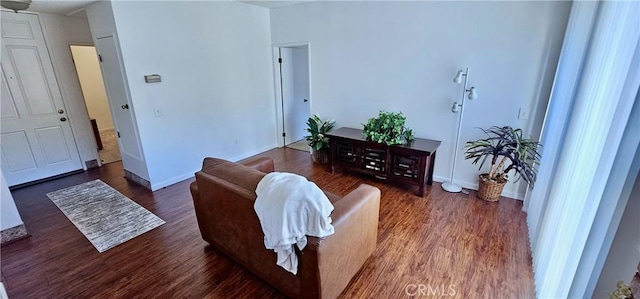
[[[82,169],[38,16],[3,11],[1,22],[0,145],[7,183]]]

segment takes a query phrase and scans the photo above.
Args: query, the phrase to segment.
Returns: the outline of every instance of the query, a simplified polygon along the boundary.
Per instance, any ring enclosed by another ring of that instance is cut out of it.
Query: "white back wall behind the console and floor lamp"
[[[465,109],[461,141],[476,127],[539,134],[570,2],[309,2],[271,9],[274,44],[308,41],[312,113],[362,128],[378,110],[402,111],[417,137],[442,140],[436,180],[449,177],[462,86],[470,67],[479,97]],[[530,112],[518,120],[518,110]],[[456,182],[477,186],[477,166],[458,156]],[[522,198],[509,184],[503,193]]]

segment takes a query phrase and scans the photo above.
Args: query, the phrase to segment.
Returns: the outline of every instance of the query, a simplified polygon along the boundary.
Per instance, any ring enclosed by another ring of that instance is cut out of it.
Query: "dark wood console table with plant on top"
[[[331,171],[348,169],[390,182],[418,186],[433,183],[433,164],[440,141],[416,138],[410,144],[388,146],[367,141],[362,130],[340,128],[327,133],[331,146]]]

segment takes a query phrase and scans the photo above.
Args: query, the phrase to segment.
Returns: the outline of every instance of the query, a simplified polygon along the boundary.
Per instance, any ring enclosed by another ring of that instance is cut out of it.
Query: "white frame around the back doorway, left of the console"
[[[273,61],[273,81],[274,81],[274,104],[276,106],[276,140],[278,147],[284,147],[285,142],[282,136],[284,132],[284,114],[282,102],[282,90],[280,86],[280,64],[278,63],[280,48],[296,48],[307,46],[307,69],[309,76],[309,114],[313,111],[313,90],[311,80],[311,43],[310,42],[292,42],[277,43],[272,45],[272,61]]]

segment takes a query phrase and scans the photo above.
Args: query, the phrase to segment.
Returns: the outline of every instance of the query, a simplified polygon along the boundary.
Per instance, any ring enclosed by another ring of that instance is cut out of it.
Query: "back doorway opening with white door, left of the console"
[[[309,151],[304,136],[311,115],[309,45],[277,46],[278,133],[284,147]]]

